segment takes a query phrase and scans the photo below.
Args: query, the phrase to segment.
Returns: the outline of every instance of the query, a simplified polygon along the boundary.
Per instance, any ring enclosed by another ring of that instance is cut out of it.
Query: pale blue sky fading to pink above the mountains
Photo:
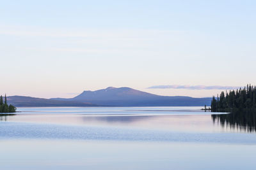
[[[0,94],[256,85],[256,1],[1,1]]]

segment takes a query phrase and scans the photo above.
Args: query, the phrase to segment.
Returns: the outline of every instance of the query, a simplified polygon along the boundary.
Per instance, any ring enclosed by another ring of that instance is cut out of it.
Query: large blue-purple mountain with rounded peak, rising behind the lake
[[[70,99],[52,98],[58,101],[76,101],[103,106],[209,106],[211,97],[159,96],[129,87],[108,87],[96,91],[84,91]]]

